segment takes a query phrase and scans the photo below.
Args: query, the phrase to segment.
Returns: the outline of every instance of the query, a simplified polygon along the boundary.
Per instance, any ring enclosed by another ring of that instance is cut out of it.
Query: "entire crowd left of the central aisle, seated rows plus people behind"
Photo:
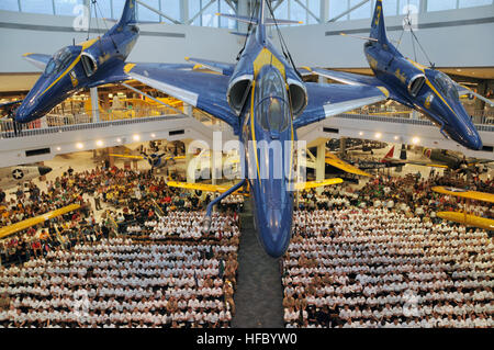
[[[205,233],[200,211],[212,196],[147,171],[69,169],[46,191],[30,189],[2,196],[1,226],[81,210],[0,241],[2,327],[229,326],[243,199],[222,203]]]

